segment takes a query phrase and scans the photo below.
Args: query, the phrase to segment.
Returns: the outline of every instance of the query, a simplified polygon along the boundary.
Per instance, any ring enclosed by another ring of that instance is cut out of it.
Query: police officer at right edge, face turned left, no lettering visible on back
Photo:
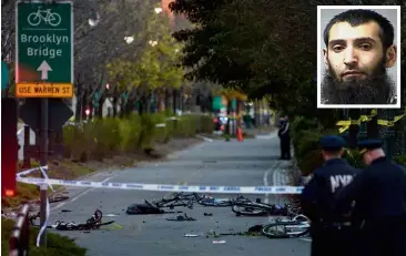
[[[336,195],[338,209],[355,201],[361,225],[362,255],[406,255],[406,171],[389,161],[380,140],[358,143],[366,170]]]

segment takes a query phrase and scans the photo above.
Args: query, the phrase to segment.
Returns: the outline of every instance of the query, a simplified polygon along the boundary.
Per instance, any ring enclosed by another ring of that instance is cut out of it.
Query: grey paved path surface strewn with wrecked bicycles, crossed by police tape
[[[277,139],[275,135],[263,140],[238,142],[204,142],[194,149],[176,153],[169,162],[148,164],[142,167],[116,172],[101,172],[93,181],[163,183],[189,185],[282,185],[286,162],[278,161]],[[230,208],[210,208],[195,206],[194,209],[180,208],[196,222],[168,222],[165,217],[173,214],[154,216],[130,216],[124,213],[128,205],[142,203],[143,199],[161,198],[162,192],[134,192],[89,188],[70,188],[71,199],[53,206],[51,223],[54,221],[83,222],[97,207],[103,214],[115,217],[103,217],[103,221],[115,219],[121,229],[94,231],[91,233],[61,232],[77,239],[81,246],[89,248],[94,256],[306,256],[309,255],[309,243],[303,238],[268,239],[264,237],[224,236],[217,239],[225,244],[213,244],[213,237],[184,237],[184,234],[205,234],[210,229],[219,233],[245,232],[250,226],[268,222],[267,217],[236,217]],[[215,195],[227,197],[229,195]],[[263,199],[275,202],[278,198],[270,195]],[[61,213],[61,209],[71,209]],[[212,213],[213,216],[203,216]]]

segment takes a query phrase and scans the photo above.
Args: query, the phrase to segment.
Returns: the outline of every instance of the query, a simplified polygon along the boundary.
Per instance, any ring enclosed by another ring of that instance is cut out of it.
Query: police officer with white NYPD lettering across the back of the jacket
[[[342,158],[342,137],[328,135],[319,142],[325,163],[313,172],[301,196],[302,209],[311,219],[312,256],[347,256],[354,233],[349,217],[336,213],[334,195],[361,171]]]

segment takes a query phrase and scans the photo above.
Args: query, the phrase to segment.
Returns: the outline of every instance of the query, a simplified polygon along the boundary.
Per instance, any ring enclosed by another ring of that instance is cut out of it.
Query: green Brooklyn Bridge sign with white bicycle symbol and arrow
[[[18,1],[16,31],[17,83],[73,83],[72,2]]]

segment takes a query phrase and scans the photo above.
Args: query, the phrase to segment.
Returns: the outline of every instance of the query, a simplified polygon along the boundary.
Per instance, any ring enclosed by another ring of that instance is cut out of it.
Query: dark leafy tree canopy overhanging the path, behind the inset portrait
[[[186,78],[237,86],[251,98],[268,94],[274,109],[334,121],[339,115],[336,111],[316,111],[316,7],[402,3],[405,4],[402,0],[174,0],[170,8],[196,24],[174,33],[185,42],[183,65],[190,68]],[[405,14],[402,18],[406,19]],[[403,57],[405,45],[402,43]]]

